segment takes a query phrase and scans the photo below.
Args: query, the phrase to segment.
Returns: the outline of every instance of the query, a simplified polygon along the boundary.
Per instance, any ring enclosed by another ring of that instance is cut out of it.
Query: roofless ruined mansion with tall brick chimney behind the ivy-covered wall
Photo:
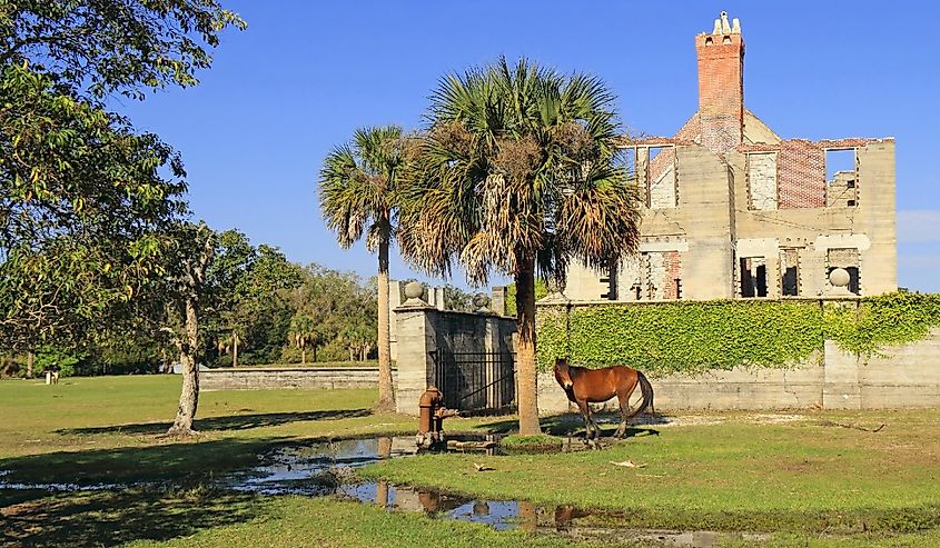
[[[695,37],[699,110],[672,138],[625,143],[640,253],[571,267],[572,300],[815,297],[897,289],[894,140],[782,139],[744,106],[744,40],[726,13]],[[794,104],[793,108],[799,108]]]

